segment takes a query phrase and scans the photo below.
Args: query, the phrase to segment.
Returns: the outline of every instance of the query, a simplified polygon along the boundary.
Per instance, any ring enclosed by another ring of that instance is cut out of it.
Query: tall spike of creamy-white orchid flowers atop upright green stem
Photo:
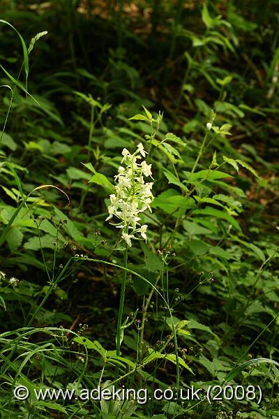
[[[151,212],[153,182],[145,182],[144,179],[152,177],[152,172],[151,164],[142,161],[142,157],[146,156],[146,151],[141,142],[137,145],[134,154],[130,154],[128,149],[124,148],[122,156],[121,165],[124,163],[123,166],[126,167],[119,166],[118,174],[114,176],[117,184],[114,187],[115,193],[110,195],[109,216],[106,221],[112,219],[113,216],[119,219],[119,223],[114,226],[122,229],[121,238],[131,247],[131,240],[139,239],[135,237],[136,233],[140,233],[142,238],[147,240],[147,225],[140,226],[139,214],[145,210]],[[141,162],[137,163],[138,160]]]

